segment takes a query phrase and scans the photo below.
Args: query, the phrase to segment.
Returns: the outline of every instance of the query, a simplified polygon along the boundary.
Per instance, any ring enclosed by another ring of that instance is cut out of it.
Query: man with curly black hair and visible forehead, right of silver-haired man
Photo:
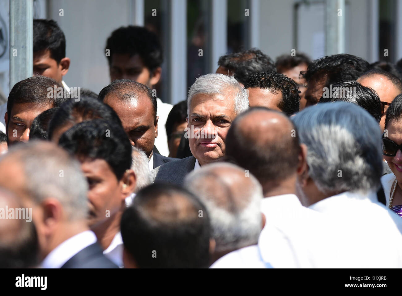
[[[289,77],[277,72],[251,75],[244,87],[250,107],[267,107],[288,116],[299,112],[299,87]]]

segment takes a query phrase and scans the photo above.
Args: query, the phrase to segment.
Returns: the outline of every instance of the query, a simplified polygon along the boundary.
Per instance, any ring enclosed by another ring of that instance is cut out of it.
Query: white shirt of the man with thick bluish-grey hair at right
[[[344,192],[323,199],[310,209],[323,213],[344,228],[349,267],[402,267],[402,219],[375,200],[375,193]],[[348,250],[349,249],[349,250]]]

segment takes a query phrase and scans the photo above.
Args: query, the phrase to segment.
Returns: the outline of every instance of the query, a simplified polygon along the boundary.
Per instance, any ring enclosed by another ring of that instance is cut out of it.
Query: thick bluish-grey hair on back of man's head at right
[[[353,103],[321,103],[291,119],[307,146],[309,174],[320,191],[377,191],[381,131],[367,111]]]

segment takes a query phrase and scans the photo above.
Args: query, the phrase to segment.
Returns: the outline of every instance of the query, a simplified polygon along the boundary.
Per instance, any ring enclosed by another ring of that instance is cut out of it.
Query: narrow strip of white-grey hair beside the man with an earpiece
[[[151,172],[148,166],[148,157],[144,151],[131,147],[131,170],[135,174],[135,193],[152,183]]]

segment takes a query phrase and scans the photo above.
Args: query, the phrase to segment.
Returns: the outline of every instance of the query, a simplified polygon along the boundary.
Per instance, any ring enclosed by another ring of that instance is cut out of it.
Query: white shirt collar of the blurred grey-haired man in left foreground
[[[96,242],[95,234],[86,230],[65,240],[55,247],[42,261],[42,268],[60,268],[80,250]]]

